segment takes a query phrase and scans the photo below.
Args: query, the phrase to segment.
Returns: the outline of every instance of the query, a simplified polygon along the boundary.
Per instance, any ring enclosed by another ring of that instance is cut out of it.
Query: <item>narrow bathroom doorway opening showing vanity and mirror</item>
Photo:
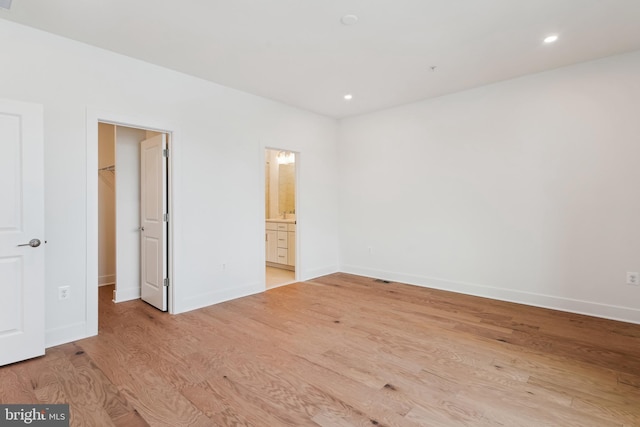
[[[266,288],[296,281],[297,160],[292,151],[265,150]]]

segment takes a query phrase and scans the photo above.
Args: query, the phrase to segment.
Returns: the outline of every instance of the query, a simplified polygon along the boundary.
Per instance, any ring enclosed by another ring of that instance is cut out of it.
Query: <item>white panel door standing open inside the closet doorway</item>
[[[167,136],[140,143],[142,300],[167,311]]]

